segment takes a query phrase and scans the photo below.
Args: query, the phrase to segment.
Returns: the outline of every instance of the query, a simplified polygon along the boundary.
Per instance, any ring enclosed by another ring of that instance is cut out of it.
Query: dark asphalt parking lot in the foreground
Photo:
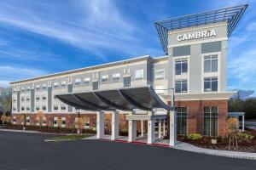
[[[0,169],[253,169],[256,161],[104,140],[44,142],[50,135],[0,132]]]

